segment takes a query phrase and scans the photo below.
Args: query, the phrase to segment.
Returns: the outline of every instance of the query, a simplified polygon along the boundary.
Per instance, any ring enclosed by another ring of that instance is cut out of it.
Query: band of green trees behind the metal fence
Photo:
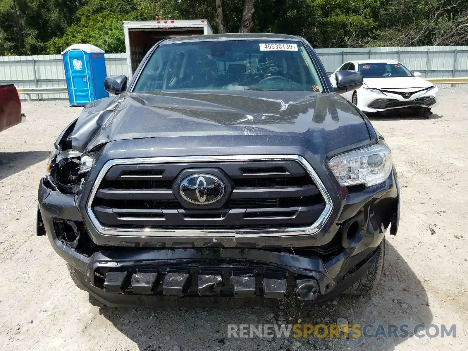
[[[0,53],[90,43],[123,52],[123,21],[206,19],[215,32],[298,34],[314,47],[468,44],[468,0],[0,0]]]

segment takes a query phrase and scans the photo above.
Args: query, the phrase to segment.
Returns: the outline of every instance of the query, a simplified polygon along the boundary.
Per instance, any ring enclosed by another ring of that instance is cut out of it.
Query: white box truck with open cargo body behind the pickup
[[[157,42],[197,34],[213,34],[210,23],[206,20],[124,22],[128,77],[132,77],[146,52]]]

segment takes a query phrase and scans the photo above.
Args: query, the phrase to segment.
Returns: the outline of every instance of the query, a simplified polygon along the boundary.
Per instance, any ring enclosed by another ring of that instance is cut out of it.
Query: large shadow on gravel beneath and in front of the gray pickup
[[[103,314],[138,350],[394,350],[401,338],[228,338],[227,324],[272,324],[285,319],[294,324],[335,324],[344,318],[350,324],[430,324],[424,287],[393,246],[386,243],[386,264],[377,290],[365,297],[342,296],[326,304],[234,308],[109,308]],[[396,301],[395,301],[396,300]],[[292,318],[289,320],[289,318]],[[369,329],[372,333],[375,329]],[[299,344],[298,344],[299,343]]]

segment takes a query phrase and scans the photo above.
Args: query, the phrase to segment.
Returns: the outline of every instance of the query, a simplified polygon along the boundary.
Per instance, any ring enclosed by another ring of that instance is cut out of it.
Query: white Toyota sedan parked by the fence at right
[[[359,71],[364,84],[355,91],[342,93],[363,112],[413,109],[424,115],[437,105],[439,89],[393,60],[359,60],[344,63],[337,71]],[[336,87],[335,73],[330,76]]]

